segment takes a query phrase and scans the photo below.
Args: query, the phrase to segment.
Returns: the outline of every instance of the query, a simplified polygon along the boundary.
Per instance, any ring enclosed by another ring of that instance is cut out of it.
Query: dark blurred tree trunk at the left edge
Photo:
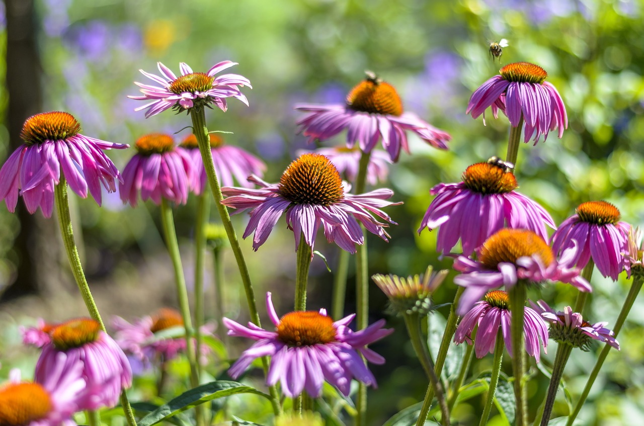
[[[33,0],[5,0],[5,6],[6,89],[9,97],[6,123],[10,154],[23,143],[20,131],[24,120],[42,112],[43,99]],[[1,301],[42,293],[50,282],[59,282],[60,276],[56,267],[60,245],[57,241],[55,217],[44,219],[41,212],[29,214],[22,199],[18,201],[15,214],[20,221],[20,231],[14,242],[17,273],[15,281],[6,288]]]

